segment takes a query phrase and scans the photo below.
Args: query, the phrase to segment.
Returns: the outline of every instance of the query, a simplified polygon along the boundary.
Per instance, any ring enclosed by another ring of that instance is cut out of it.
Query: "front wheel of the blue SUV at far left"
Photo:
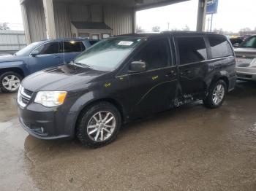
[[[0,88],[4,93],[15,93],[20,87],[22,77],[13,71],[7,71],[0,76]]]

